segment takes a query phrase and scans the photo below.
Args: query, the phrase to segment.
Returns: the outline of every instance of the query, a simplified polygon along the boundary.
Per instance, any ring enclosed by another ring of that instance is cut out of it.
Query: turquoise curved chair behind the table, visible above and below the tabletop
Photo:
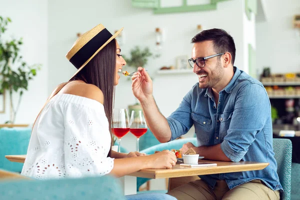
[[[190,138],[183,138],[183,139],[175,139],[170,142],[166,143],[159,143],[157,145],[151,146],[149,148],[146,148],[144,150],[141,150],[140,152],[144,152],[146,154],[153,154],[156,150],[165,150],[165,149],[179,149],[182,147],[183,144],[191,142],[195,146],[197,146],[197,139],[195,137],[190,137]],[[150,178],[141,178],[137,177],[136,179],[136,188],[138,189],[140,185],[145,183],[146,181],[150,180]],[[162,190],[164,192],[164,190]]]

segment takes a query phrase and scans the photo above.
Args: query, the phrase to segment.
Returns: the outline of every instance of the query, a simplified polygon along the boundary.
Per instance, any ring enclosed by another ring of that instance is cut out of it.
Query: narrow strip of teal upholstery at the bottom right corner
[[[300,163],[291,163],[291,200],[300,199]]]

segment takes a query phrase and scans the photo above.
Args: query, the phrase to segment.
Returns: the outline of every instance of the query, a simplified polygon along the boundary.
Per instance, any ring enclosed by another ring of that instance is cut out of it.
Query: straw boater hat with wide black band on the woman
[[[77,68],[72,79],[106,44],[114,39],[123,28],[113,35],[101,23],[84,32],[73,44],[65,57]]]

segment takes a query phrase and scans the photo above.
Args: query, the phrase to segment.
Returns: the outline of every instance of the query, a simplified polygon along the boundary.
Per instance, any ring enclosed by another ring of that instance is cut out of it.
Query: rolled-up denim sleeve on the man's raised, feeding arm
[[[191,95],[192,89],[183,97],[179,107],[166,118],[172,132],[170,140],[185,134],[192,126]]]

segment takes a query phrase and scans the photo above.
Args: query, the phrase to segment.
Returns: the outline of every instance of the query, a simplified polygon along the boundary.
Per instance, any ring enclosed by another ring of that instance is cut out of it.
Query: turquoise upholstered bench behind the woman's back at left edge
[[[5,155],[26,154],[31,128],[0,128],[0,168],[20,172],[23,163],[11,162]]]

